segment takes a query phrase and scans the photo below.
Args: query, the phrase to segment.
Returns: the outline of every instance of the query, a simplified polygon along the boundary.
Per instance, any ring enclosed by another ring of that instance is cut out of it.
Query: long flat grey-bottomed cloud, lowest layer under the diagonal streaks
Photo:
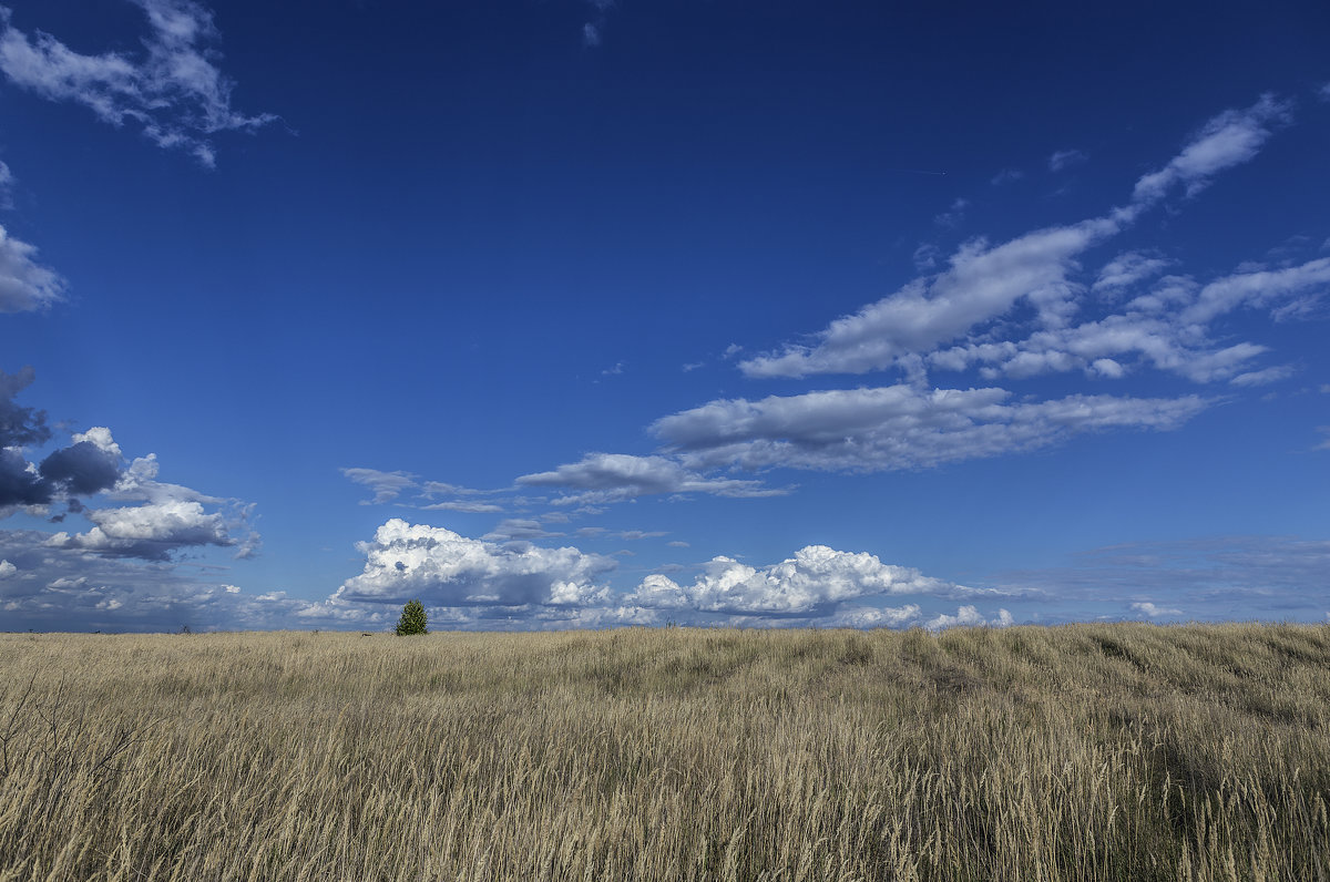
[[[713,400],[665,416],[652,431],[693,467],[823,471],[926,468],[1060,443],[1109,428],[1177,428],[1208,406],[1168,399],[1071,395],[1011,403],[1003,388],[911,386],[833,390],[762,400]]]

